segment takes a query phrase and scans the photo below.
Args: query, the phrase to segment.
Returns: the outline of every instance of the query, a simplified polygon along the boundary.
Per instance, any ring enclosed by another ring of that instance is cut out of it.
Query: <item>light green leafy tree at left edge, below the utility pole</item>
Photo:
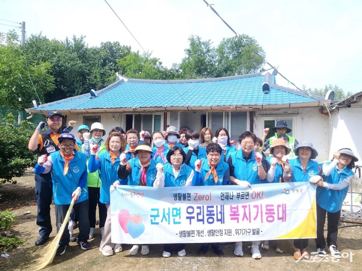
[[[14,32],[0,33],[0,39],[6,40],[0,44],[0,103],[23,110],[54,89],[54,77],[50,63],[33,63],[18,38]]]

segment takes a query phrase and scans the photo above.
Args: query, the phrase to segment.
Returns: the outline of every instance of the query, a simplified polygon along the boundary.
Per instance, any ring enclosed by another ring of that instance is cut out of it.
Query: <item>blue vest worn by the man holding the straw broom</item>
[[[81,178],[87,179],[87,155],[80,151],[74,150],[74,158],[68,163],[68,172],[64,172],[64,158],[60,155],[60,151],[52,152],[51,158],[53,166],[51,169],[51,178],[53,181],[54,203],[57,205],[67,205],[72,201],[72,193],[77,189]],[[87,181],[82,188],[81,194],[77,202],[88,199]]]

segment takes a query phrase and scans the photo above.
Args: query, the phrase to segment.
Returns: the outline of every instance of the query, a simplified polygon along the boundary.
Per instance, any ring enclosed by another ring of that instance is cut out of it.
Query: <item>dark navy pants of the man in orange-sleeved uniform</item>
[[[35,175],[35,197],[38,203],[37,225],[39,235],[49,236],[52,227],[50,220],[50,205],[53,195],[53,182],[50,173]]]

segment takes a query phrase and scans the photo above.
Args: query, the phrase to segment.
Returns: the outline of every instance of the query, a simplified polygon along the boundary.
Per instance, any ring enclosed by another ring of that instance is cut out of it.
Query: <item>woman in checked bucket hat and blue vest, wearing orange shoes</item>
[[[313,148],[313,144],[309,141],[301,141],[294,149],[294,154],[298,158],[288,161],[286,156],[283,156],[284,172],[283,179],[286,182],[309,182],[313,176],[321,176],[321,169],[315,159],[318,155],[316,149]],[[313,180],[313,178],[312,178]],[[307,251],[308,239],[294,239],[294,246],[296,251],[294,252],[294,259],[298,260],[309,259],[309,253]]]

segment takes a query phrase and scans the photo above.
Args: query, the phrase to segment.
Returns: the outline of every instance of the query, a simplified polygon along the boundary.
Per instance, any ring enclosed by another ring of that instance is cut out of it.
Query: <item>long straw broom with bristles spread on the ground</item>
[[[60,227],[59,232],[56,234],[54,239],[45,247],[45,254],[43,254],[37,261],[39,264],[35,267],[35,270],[41,270],[52,263],[56,250],[59,248],[59,241],[62,238],[64,229],[66,228],[67,221],[69,220],[70,214],[73,209],[73,205],[75,203],[75,197],[72,198],[72,201],[69,205],[66,217],[64,218],[62,227]]]

